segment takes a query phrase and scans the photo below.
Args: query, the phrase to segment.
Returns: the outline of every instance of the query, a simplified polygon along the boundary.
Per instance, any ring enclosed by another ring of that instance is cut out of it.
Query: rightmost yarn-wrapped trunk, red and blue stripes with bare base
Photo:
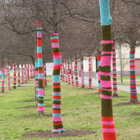
[[[130,102],[138,102],[135,75],[135,49],[133,48],[130,50]]]

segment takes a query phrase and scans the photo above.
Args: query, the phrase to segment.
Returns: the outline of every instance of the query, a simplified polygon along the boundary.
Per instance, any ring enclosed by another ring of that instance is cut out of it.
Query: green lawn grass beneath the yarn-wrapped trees
[[[48,83],[52,83],[51,76]],[[11,78],[12,80],[12,78]],[[21,118],[23,115],[37,114],[37,109],[15,109],[35,105],[35,102],[21,102],[34,100],[34,80],[30,79],[28,86],[17,87],[0,94],[0,140],[38,140],[36,138],[22,137],[23,133],[39,130],[53,130],[51,117]],[[62,82],[63,83],[63,82]],[[87,87],[87,86],[86,86]],[[101,103],[100,95],[89,95],[96,93],[95,90],[84,90],[71,85],[62,84],[62,121],[65,129],[96,130],[93,135],[56,138],[54,140],[102,140],[101,127]],[[113,98],[113,104],[128,102],[129,93],[118,91],[125,98]],[[140,98],[140,95],[138,95]],[[52,105],[52,85],[45,88],[45,105]],[[138,140],[140,137],[140,117],[131,116],[132,113],[140,112],[139,105],[113,107],[114,122],[118,140]],[[52,108],[45,108],[45,114],[51,114]],[[65,116],[63,116],[65,115]],[[49,140],[47,138],[41,140]],[[50,139],[51,140],[51,139]]]

